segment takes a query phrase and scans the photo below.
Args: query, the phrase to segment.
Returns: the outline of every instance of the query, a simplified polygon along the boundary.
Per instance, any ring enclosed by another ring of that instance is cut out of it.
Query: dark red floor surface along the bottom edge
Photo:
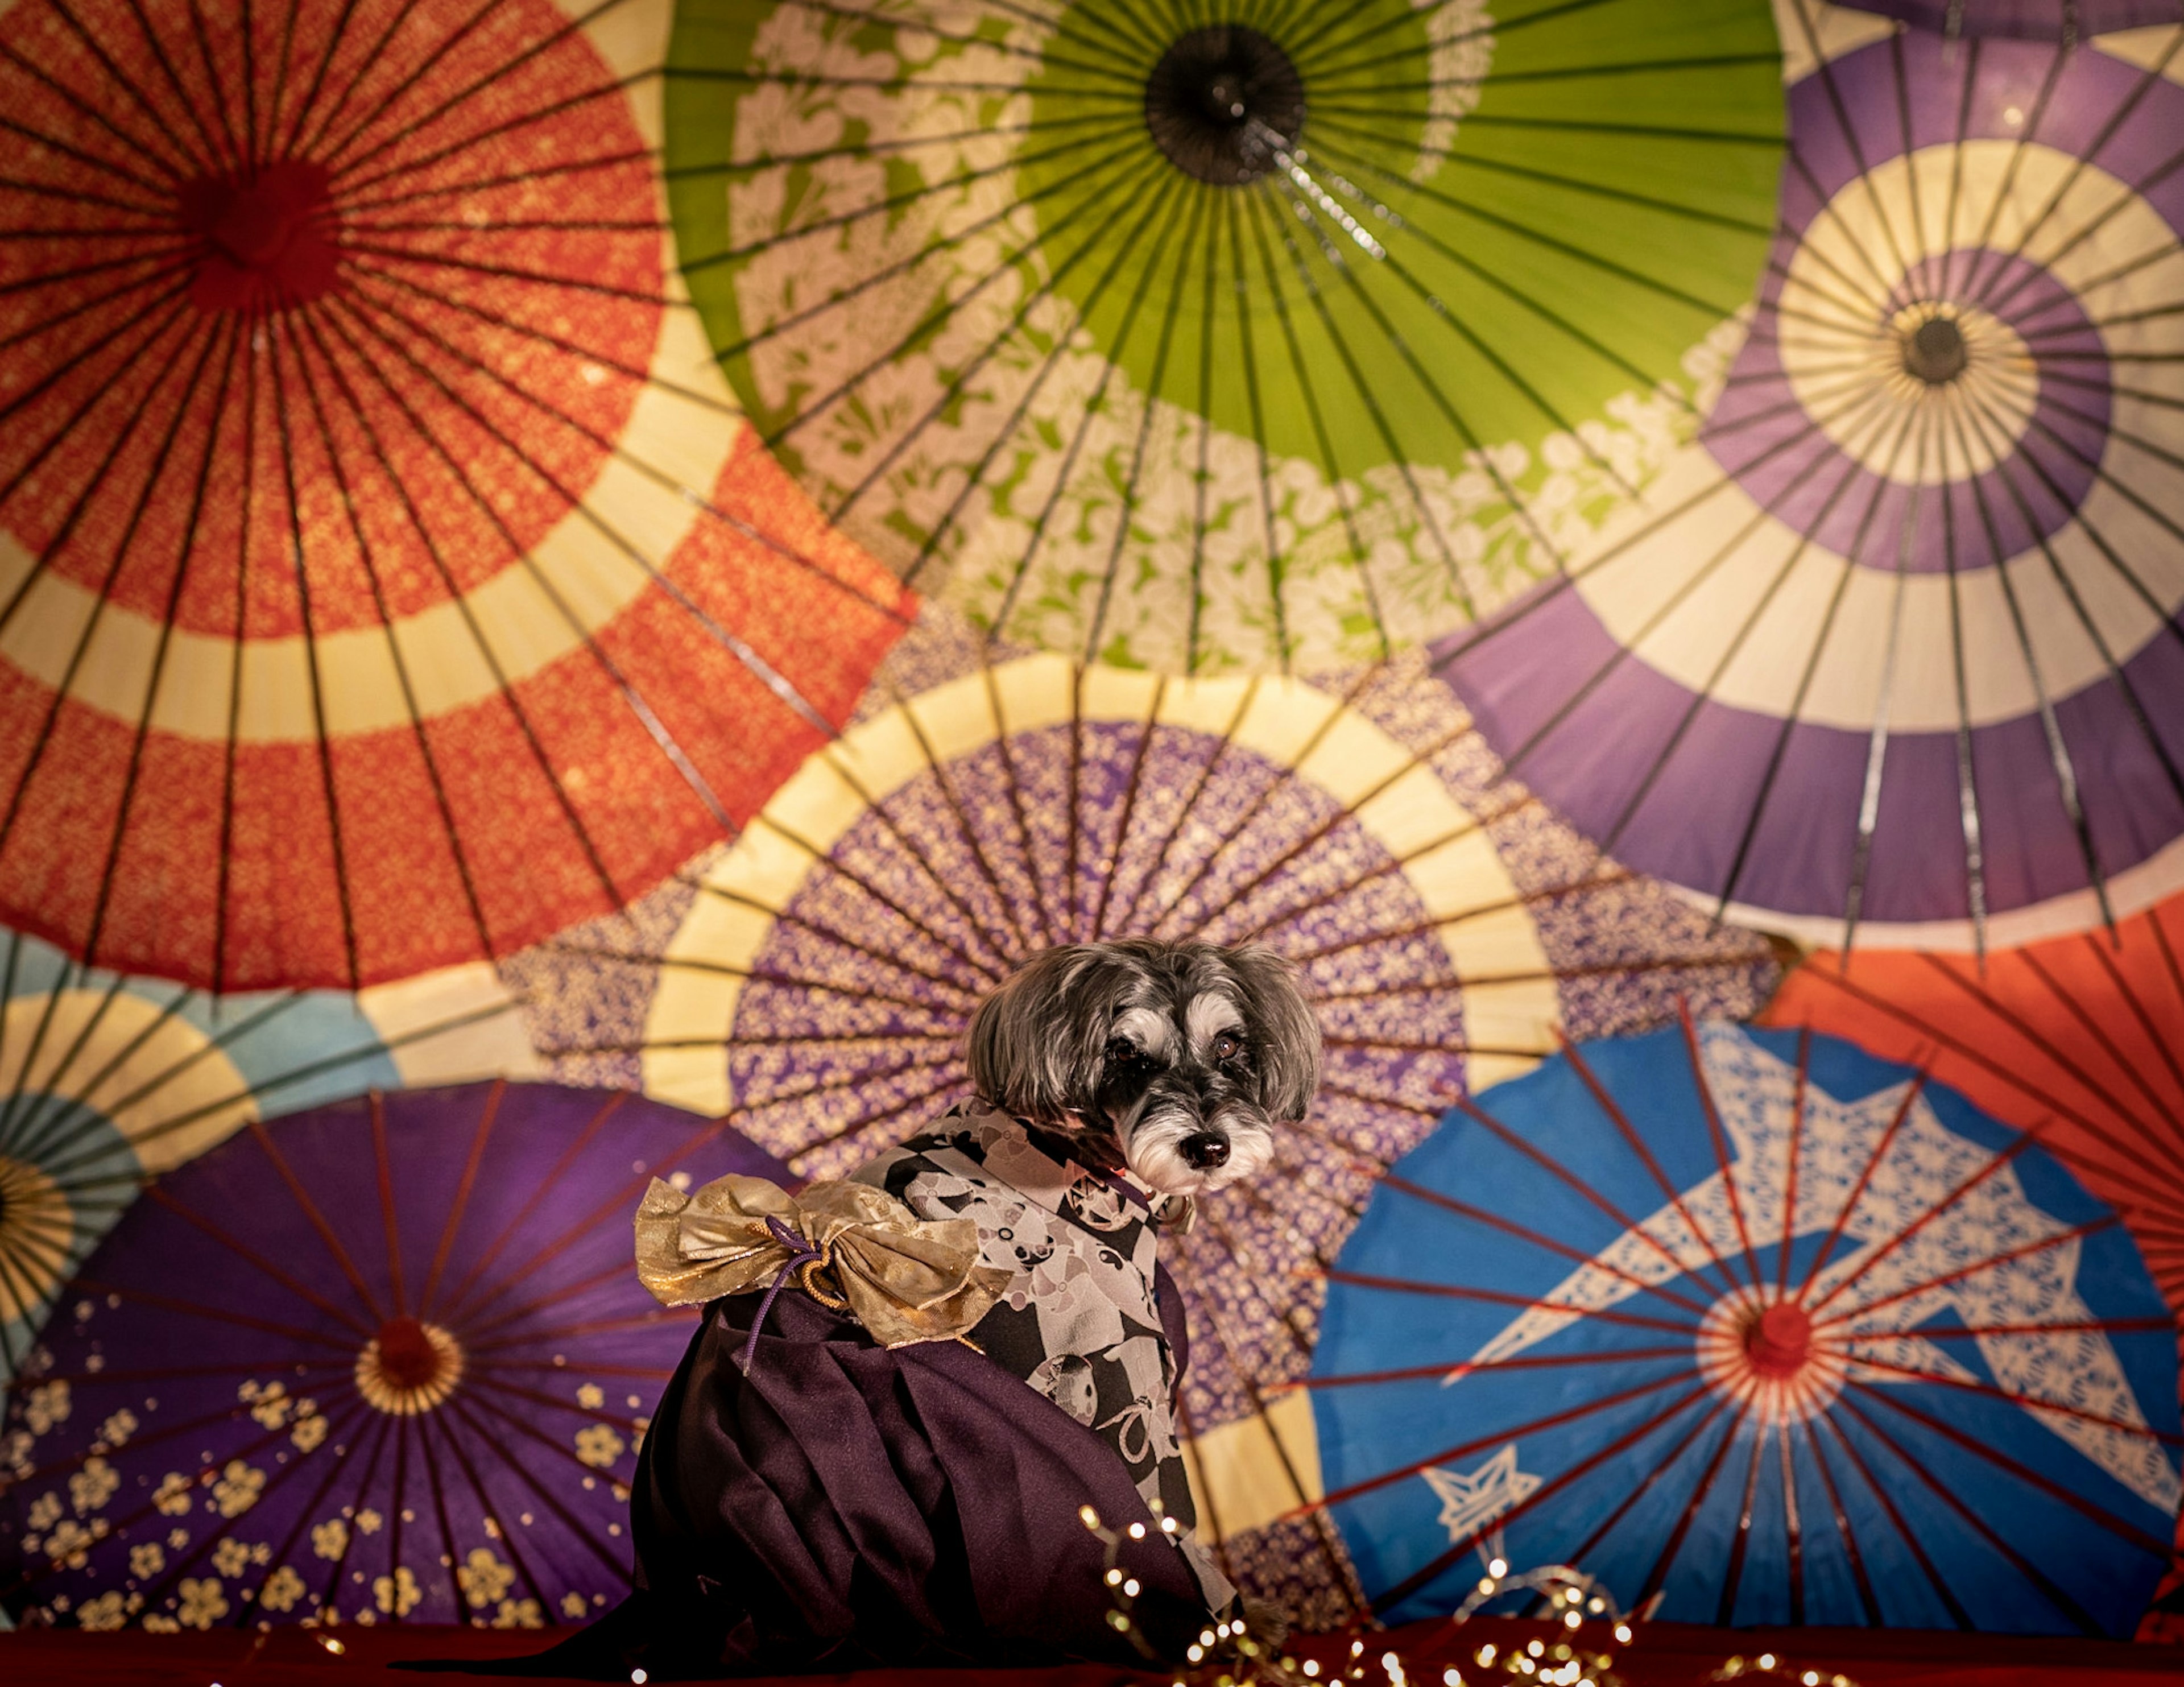
[[[1481,1643],[1522,1645],[1542,1637],[1553,1645],[1562,1635],[1544,1624],[1479,1619],[1461,1635],[1441,1624],[1378,1635],[1367,1641],[1363,1663],[1365,1687],[1387,1687],[1378,1667],[1380,1652],[1393,1648],[1404,1656],[1413,1687],[1439,1687],[1450,1665],[1463,1670],[1472,1687],[1507,1680],[1472,1665]],[[328,1652],[319,1637],[301,1628],[280,1628],[269,1635],[249,1630],[214,1635],[83,1635],[24,1632],[0,1635],[0,1683],[7,1687],[428,1687],[443,1680],[461,1687],[480,1676],[417,1676],[389,1670],[393,1659],[476,1656],[500,1659],[533,1652],[546,1637],[537,1632],[491,1632],[470,1628],[343,1628],[343,1652]],[[1321,1680],[1341,1676],[1348,1643],[1317,1641],[1297,1648],[1319,1656],[1328,1667]],[[1756,1674],[1762,1652],[1778,1654],[1771,1676]],[[1992,1635],[1920,1635],[1872,1630],[1721,1630],[1653,1624],[1640,1630],[1636,1645],[1616,1659],[1616,1672],[1629,1687],[1697,1687],[1719,1680],[1730,1656],[1745,1659],[1741,1683],[1797,1683],[1806,1670],[1821,1680],[1845,1674],[1861,1687],[2184,1687],[2184,1650],[2164,1645],[2116,1645],[2094,1641],[2005,1639]],[[943,1687],[972,1680],[976,1687],[1109,1687],[1109,1683],[1166,1683],[1166,1674],[1125,1676],[1116,1670],[1077,1665],[1070,1670],[895,1670],[858,1676],[802,1676],[815,1683],[856,1683],[856,1687]],[[498,1676],[496,1680],[526,1680]]]

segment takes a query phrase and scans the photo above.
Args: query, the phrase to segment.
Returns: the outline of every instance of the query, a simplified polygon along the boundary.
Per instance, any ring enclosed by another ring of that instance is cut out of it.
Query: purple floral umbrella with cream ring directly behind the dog
[[[557,1069],[723,1112],[828,1178],[965,1095],[972,1007],[1046,944],[1251,940],[1295,962],[1326,1034],[1313,1114],[1162,1259],[1190,1318],[1201,1527],[1247,1586],[1334,1621],[1356,1597],[1339,1543],[1308,1510],[1275,1521],[1317,1490],[1302,1399],[1275,1390],[1310,1359],[1317,1274],[1372,1180],[1557,1025],[1653,1025],[1679,992],[1749,1012],[1773,959],[1492,789],[1415,664],[1321,688],[943,656],[697,885],[633,911],[649,953],[607,924],[509,977]]]

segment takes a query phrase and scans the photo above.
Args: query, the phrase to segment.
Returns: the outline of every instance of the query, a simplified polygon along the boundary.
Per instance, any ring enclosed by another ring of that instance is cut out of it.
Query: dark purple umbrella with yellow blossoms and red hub
[[[692,1322],[638,1285],[651,1173],[782,1169],[544,1084],[251,1125],[116,1226],[9,1394],[0,1602],[83,1628],[594,1615]]]

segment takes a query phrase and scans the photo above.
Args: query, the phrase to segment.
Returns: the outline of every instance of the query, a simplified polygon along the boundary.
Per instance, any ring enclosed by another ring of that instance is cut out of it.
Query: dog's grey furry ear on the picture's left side
[[[1061,1125],[1099,1097],[1116,962],[1092,944],[1048,948],[970,1018],[970,1082],[1018,1119]]]

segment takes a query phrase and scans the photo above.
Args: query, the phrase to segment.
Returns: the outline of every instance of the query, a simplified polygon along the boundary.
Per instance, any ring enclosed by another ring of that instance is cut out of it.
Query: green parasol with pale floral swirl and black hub
[[[684,0],[666,92],[764,444],[996,634],[1171,671],[1553,570],[1734,350],[1780,135],[1765,0]]]

